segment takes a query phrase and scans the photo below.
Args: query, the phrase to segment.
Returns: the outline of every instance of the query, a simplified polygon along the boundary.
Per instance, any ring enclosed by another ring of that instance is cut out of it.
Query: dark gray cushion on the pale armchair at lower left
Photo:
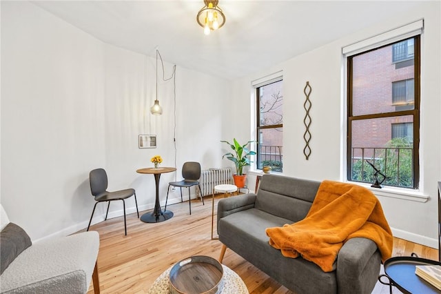
[[[23,228],[12,222],[7,224],[0,233],[0,274],[6,270],[25,248],[31,245],[30,237]]]

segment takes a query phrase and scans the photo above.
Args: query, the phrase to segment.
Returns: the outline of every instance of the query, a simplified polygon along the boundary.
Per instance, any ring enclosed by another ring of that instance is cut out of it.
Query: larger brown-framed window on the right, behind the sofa
[[[347,179],[418,188],[420,36],[348,57]],[[382,179],[382,177],[380,177]]]

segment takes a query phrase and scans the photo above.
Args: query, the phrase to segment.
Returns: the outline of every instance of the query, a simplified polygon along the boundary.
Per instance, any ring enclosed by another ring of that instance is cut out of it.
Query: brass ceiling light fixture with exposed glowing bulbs
[[[199,10],[196,20],[204,28],[204,34],[209,35],[212,30],[222,28],[225,24],[225,15],[218,7],[218,0],[204,0],[205,6]]]

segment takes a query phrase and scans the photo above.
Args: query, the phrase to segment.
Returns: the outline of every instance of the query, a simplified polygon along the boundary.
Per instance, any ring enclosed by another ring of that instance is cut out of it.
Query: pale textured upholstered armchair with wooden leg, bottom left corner
[[[0,293],[100,293],[96,257],[99,234],[82,232],[32,244],[0,204]]]

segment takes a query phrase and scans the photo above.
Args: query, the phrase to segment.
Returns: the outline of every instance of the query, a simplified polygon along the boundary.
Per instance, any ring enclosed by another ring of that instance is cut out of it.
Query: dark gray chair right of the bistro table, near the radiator
[[[190,210],[190,215],[191,215],[192,214],[192,201],[190,199],[190,188],[192,186],[199,187],[199,192],[201,192],[202,204],[205,205],[204,199],[202,197],[201,186],[199,185],[199,178],[201,177],[201,164],[199,164],[198,162],[195,162],[195,161],[185,162],[182,167],[182,177],[184,178],[182,181],[168,183],[167,197],[165,198],[164,210],[167,210],[167,200],[168,200],[168,193],[170,191],[170,186],[179,187],[181,189],[181,202],[183,202],[182,188],[188,188],[188,205],[189,205],[189,210]]]

